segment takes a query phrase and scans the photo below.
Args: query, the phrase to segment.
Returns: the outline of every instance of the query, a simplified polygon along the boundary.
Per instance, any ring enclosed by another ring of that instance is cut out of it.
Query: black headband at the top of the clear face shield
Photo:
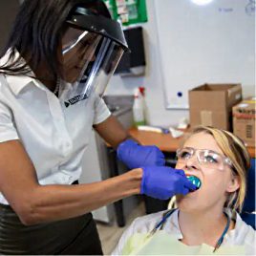
[[[88,32],[96,32],[117,42],[125,52],[130,52],[120,24],[94,11],[77,7],[68,17],[67,23]]]

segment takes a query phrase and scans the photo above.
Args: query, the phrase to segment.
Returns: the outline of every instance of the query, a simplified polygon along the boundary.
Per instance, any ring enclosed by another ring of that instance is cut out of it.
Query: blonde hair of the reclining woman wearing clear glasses
[[[232,173],[240,179],[240,188],[228,195],[224,206],[241,212],[245,201],[247,170],[250,166],[250,156],[244,141],[230,132],[210,126],[196,127],[189,137],[198,133],[211,135],[224,155],[232,161]]]

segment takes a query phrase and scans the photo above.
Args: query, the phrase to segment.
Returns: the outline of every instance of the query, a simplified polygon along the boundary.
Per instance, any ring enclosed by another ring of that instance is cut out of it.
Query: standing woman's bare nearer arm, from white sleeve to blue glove
[[[40,185],[19,140],[0,143],[0,191],[23,224],[72,218],[140,193],[142,170],[79,185]]]

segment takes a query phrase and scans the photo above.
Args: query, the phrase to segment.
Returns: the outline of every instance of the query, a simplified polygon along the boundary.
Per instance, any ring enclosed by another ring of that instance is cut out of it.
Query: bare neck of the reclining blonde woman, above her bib
[[[185,245],[215,246],[224,232],[226,223],[227,219],[221,207],[193,213],[180,210],[179,224],[183,236],[181,241]]]

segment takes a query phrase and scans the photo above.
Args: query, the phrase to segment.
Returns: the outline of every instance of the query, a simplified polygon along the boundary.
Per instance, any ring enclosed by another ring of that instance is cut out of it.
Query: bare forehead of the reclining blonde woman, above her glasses
[[[190,138],[186,139],[183,147],[209,149],[223,154],[223,151],[218,146],[216,140],[211,135],[204,132],[192,135]]]

